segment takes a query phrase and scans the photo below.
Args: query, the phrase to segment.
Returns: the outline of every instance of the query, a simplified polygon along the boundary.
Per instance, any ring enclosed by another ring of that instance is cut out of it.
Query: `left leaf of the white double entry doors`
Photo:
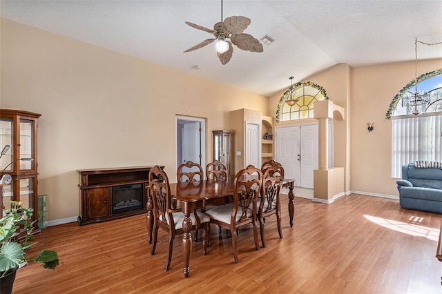
[[[294,179],[295,185],[300,186],[301,164],[300,164],[300,144],[301,127],[289,126],[276,128],[276,161],[284,167],[285,177]]]

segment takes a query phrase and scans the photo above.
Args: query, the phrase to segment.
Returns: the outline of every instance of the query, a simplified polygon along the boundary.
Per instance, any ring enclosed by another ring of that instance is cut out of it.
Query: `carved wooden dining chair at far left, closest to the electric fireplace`
[[[184,233],[182,228],[184,213],[182,213],[181,208],[174,207],[169,179],[164,170],[159,166],[154,166],[149,172],[149,185],[151,186],[153,197],[153,246],[151,255],[155,253],[157,246],[158,228],[162,228],[162,230],[169,233],[169,252],[167,254],[166,266],[164,266],[164,271],[167,271],[171,266],[173,239],[175,235],[182,235]],[[206,255],[209,244],[210,217],[205,213],[194,210],[191,220],[192,231],[204,228],[204,233],[202,234],[202,253]]]

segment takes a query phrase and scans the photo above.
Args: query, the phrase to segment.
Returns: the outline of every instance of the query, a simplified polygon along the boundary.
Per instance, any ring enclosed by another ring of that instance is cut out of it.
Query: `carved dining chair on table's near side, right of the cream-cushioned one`
[[[284,168],[277,162],[265,168],[262,174],[261,197],[258,208],[258,220],[262,246],[265,247],[265,218],[276,215],[279,237],[282,239],[280,193],[284,183]]]

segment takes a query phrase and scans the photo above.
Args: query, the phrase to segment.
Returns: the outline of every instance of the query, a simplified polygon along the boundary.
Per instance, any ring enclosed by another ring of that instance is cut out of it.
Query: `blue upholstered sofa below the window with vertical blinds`
[[[403,208],[442,213],[442,169],[402,166],[402,179],[396,182]]]

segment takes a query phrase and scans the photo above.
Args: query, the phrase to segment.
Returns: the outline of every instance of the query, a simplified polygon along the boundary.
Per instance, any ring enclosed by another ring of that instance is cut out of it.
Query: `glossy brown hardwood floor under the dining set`
[[[12,293],[442,293],[442,262],[435,257],[441,219],[393,199],[352,194],[320,204],[296,197],[290,228],[283,197],[284,239],[274,217],[260,251],[251,228],[241,230],[235,264],[231,239],[218,240],[212,226],[208,255],[202,242],[193,242],[187,279],[182,236],[175,237],[171,269],[164,272],[166,234],[159,232],[151,256],[145,215],[52,226],[30,253],[56,250],[60,266],[21,268]]]

